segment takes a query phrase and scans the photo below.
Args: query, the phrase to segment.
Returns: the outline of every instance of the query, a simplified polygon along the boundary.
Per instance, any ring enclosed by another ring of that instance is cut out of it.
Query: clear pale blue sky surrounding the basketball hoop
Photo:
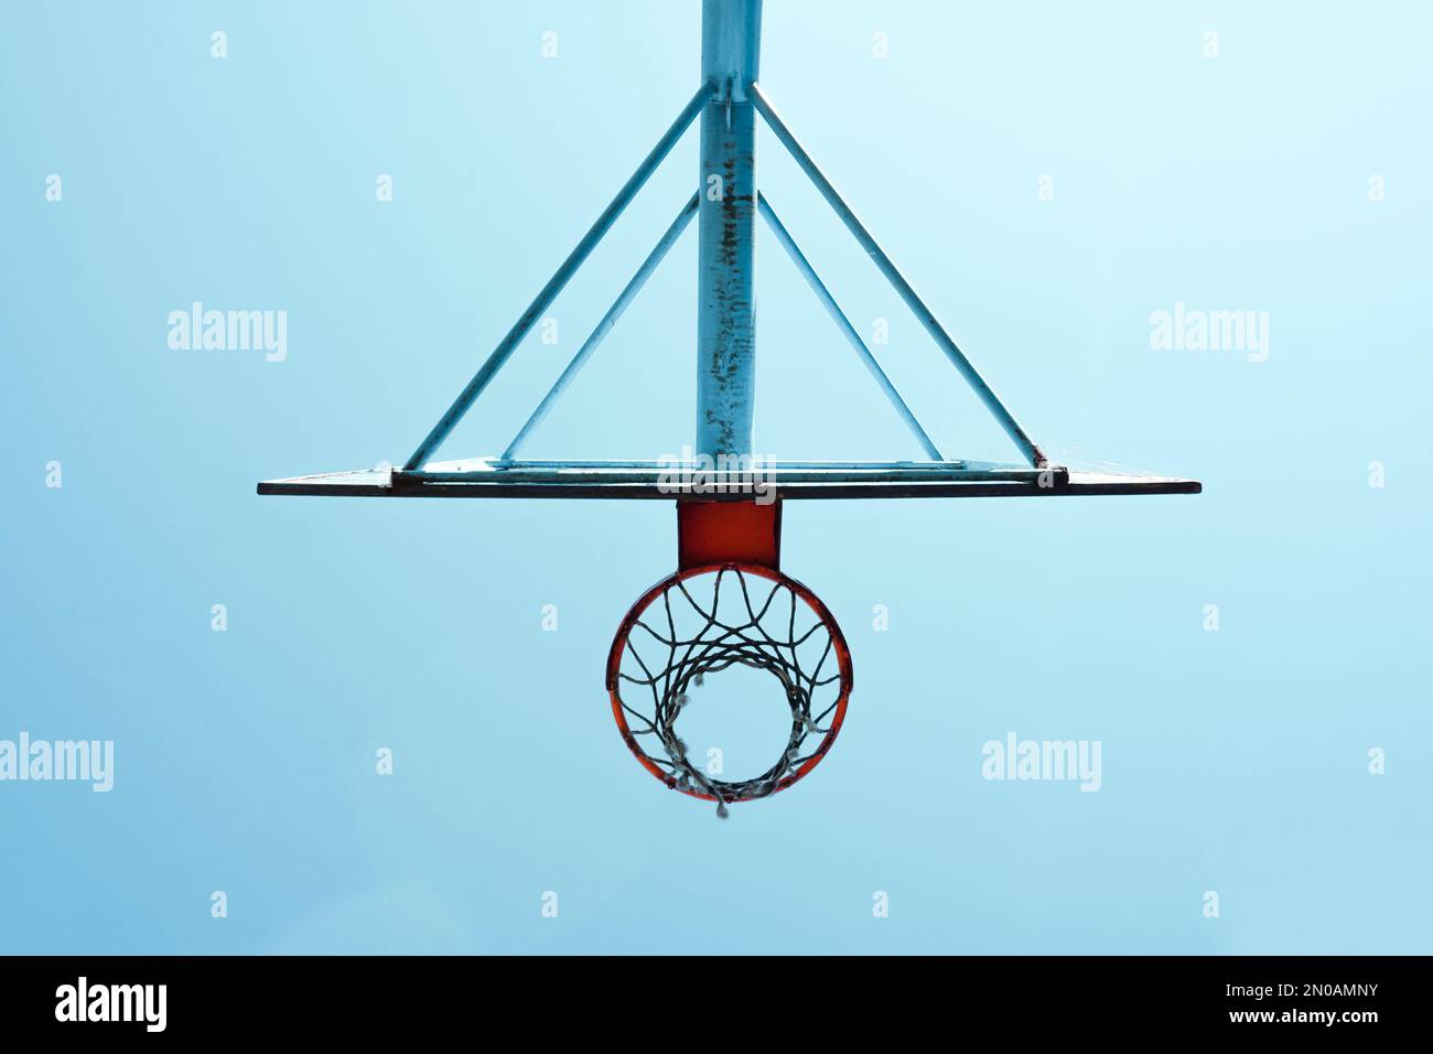
[[[0,782],[0,951],[1427,952],[1422,4],[768,0],[765,89],[1035,439],[1205,493],[792,503],[856,693],[727,822],[635,764],[602,684],[668,505],[255,496],[407,456],[691,96],[698,10],[4,6],[0,740],[115,766]],[[695,149],[444,456],[512,437]],[[941,449],[1013,460],[759,151]],[[919,456],[758,251],[758,450]],[[691,442],[694,254],[532,456]],[[284,311],[282,361],[172,348],[193,301]],[[1176,304],[1262,344],[1158,347]],[[1010,733],[1099,743],[1099,790],[984,779]]]

